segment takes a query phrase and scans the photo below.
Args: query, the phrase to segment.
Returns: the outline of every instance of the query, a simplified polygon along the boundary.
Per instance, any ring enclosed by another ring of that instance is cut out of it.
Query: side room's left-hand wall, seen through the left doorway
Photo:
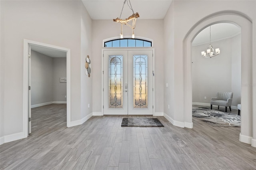
[[[31,105],[53,101],[52,57],[31,50]]]

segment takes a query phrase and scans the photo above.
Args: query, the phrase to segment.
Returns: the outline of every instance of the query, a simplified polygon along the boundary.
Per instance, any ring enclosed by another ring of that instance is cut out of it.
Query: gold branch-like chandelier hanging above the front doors
[[[122,20],[121,19],[121,15],[122,15],[122,12],[123,12],[123,9],[124,9],[124,4],[126,3],[127,1],[127,5],[129,6],[128,4],[128,1],[130,3],[130,9],[132,10],[132,15],[129,16],[128,18],[126,18],[125,20]],[[116,19],[113,19],[114,22],[119,22],[121,24],[121,32],[120,32],[120,38],[124,38],[124,35],[123,35],[123,25],[127,25],[129,26],[131,29],[132,29],[132,38],[134,38],[134,29],[135,29],[135,24],[136,24],[136,20],[137,18],[140,17],[139,13],[136,12],[134,14],[134,11],[132,9],[132,4],[130,2],[130,0],[124,0],[124,4],[123,4],[123,8],[122,8],[122,11],[121,11],[121,14],[120,14],[120,17],[119,18],[116,18]],[[132,21],[132,26],[128,24],[128,22]]]

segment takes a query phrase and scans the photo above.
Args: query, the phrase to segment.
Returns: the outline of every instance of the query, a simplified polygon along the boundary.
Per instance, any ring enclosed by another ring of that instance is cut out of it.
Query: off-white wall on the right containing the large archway
[[[165,54],[168,55],[165,55],[164,60],[165,66],[173,65],[174,67],[165,69],[164,81],[165,83],[170,81],[173,87],[165,88],[164,93],[170,94],[170,96],[166,97],[167,100],[164,101],[164,112],[166,117],[174,120],[173,122],[177,126],[192,127],[191,42],[200,30],[218,22],[237,23],[241,27],[242,35],[242,83],[252,82],[252,77],[256,76],[255,71],[252,72],[256,63],[251,64],[256,57],[255,51],[251,49],[256,42],[256,25],[252,24],[256,22],[255,3],[256,1],[232,1],[232,5],[230,5],[230,1],[218,1],[218,3],[200,0],[172,1],[173,7],[169,8],[164,19],[165,42],[170,42],[165,48]],[[204,8],[206,6],[211,8]],[[167,34],[168,32],[170,33]],[[174,76],[170,73],[173,73]],[[252,138],[252,115],[256,114],[255,110],[252,110],[253,88],[252,86],[241,88],[241,104],[244,114],[242,114],[240,141],[243,142],[250,141]],[[166,109],[170,104],[168,102],[172,101],[172,107]]]

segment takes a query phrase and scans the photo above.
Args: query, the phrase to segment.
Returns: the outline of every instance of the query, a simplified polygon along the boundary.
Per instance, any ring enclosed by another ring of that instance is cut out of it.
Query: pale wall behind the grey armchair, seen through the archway
[[[212,58],[201,55],[201,51],[206,51],[209,43],[192,46],[192,102],[210,105],[216,92],[231,91],[232,106],[237,107],[241,103],[240,35],[211,44],[214,49],[221,50],[219,55]]]

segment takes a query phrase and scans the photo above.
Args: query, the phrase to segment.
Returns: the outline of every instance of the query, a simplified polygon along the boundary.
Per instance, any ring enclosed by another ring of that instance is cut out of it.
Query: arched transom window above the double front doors
[[[133,38],[123,38],[105,42],[104,47],[152,47],[152,42]]]

